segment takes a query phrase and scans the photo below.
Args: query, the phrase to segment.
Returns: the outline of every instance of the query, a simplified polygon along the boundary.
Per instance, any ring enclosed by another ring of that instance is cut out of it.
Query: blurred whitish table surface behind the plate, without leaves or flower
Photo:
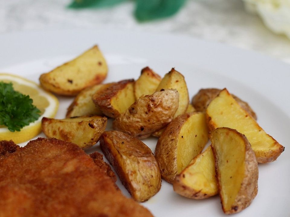
[[[178,33],[255,50],[290,63],[290,40],[272,33],[261,18],[245,11],[242,0],[188,0],[168,19],[139,23],[134,2],[113,8],[71,10],[70,0],[0,0],[0,33],[101,28]]]

